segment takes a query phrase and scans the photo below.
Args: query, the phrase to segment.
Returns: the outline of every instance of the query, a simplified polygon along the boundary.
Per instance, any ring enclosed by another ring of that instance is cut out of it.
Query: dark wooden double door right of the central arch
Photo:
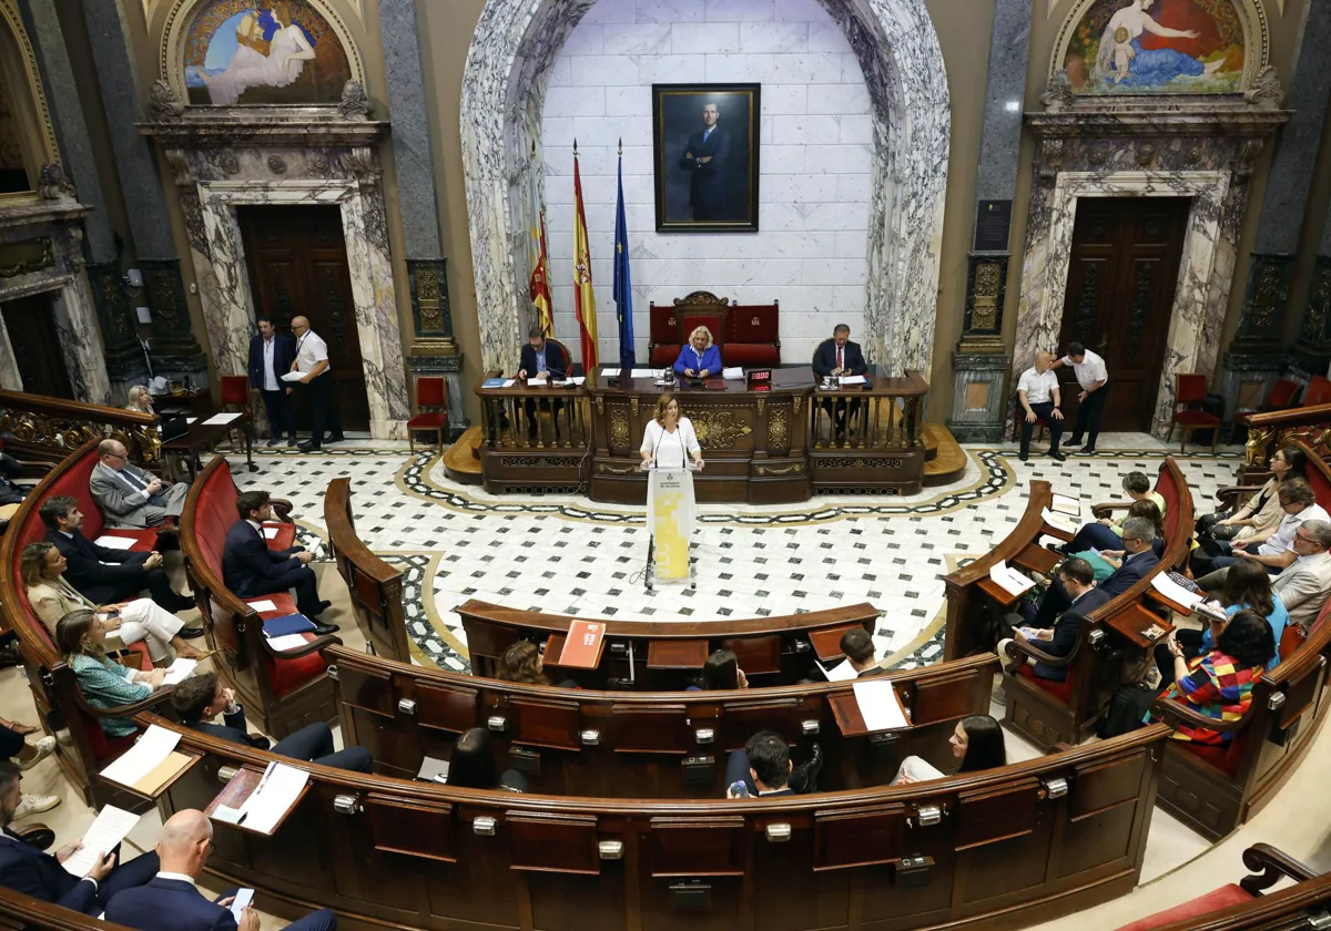
[[[1155,412],[1191,201],[1186,197],[1083,197],[1077,202],[1058,351],[1079,342],[1105,356],[1102,430],[1147,432]],[[1065,416],[1081,387],[1061,368]]]

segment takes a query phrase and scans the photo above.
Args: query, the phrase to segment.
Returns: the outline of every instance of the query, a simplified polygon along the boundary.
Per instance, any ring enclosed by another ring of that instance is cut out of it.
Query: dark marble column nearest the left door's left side
[[[153,315],[153,371],[168,378],[208,379],[208,362],[190,325],[180,257],[172,239],[166,196],[152,145],[138,133],[142,96],[121,0],[83,4],[102,109],[110,129],[116,176],[129,205],[129,233]],[[104,289],[97,289],[105,293]]]

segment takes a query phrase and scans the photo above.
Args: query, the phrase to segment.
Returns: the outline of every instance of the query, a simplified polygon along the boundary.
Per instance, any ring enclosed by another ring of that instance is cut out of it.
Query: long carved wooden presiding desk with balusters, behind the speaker
[[[824,390],[808,366],[789,366],[752,390],[727,379],[664,387],[628,372],[592,374],[582,387],[480,386],[486,489],[644,503],[639,444],[666,391],[679,398],[703,447],[707,468],[693,476],[700,501],[785,504],[821,492],[921,488],[929,384],[918,372],[889,378],[874,367],[862,386]],[[844,439],[832,431],[837,407],[849,427]]]

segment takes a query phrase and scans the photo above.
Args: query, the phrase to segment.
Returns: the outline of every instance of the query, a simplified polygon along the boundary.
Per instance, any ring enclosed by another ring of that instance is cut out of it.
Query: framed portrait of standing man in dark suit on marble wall
[[[658,233],[756,233],[757,84],[654,84]]]

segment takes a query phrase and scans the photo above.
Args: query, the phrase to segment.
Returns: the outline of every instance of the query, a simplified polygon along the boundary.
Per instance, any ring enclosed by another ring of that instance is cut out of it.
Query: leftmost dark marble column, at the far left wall
[[[88,246],[85,265],[88,285],[83,290],[91,291],[97,309],[110,398],[118,399],[128,386],[145,380],[148,366],[134,336],[134,322],[130,318],[133,310],[121,287],[120,259],[116,254],[114,234],[106,218],[83,101],[79,98],[73,68],[69,65],[69,51],[65,47],[55,4],[47,0],[20,0],[20,12],[37,52],[37,66],[41,69],[41,82],[60,145],[60,161],[75,185],[79,202],[92,207],[92,213],[83,221],[84,241]]]

